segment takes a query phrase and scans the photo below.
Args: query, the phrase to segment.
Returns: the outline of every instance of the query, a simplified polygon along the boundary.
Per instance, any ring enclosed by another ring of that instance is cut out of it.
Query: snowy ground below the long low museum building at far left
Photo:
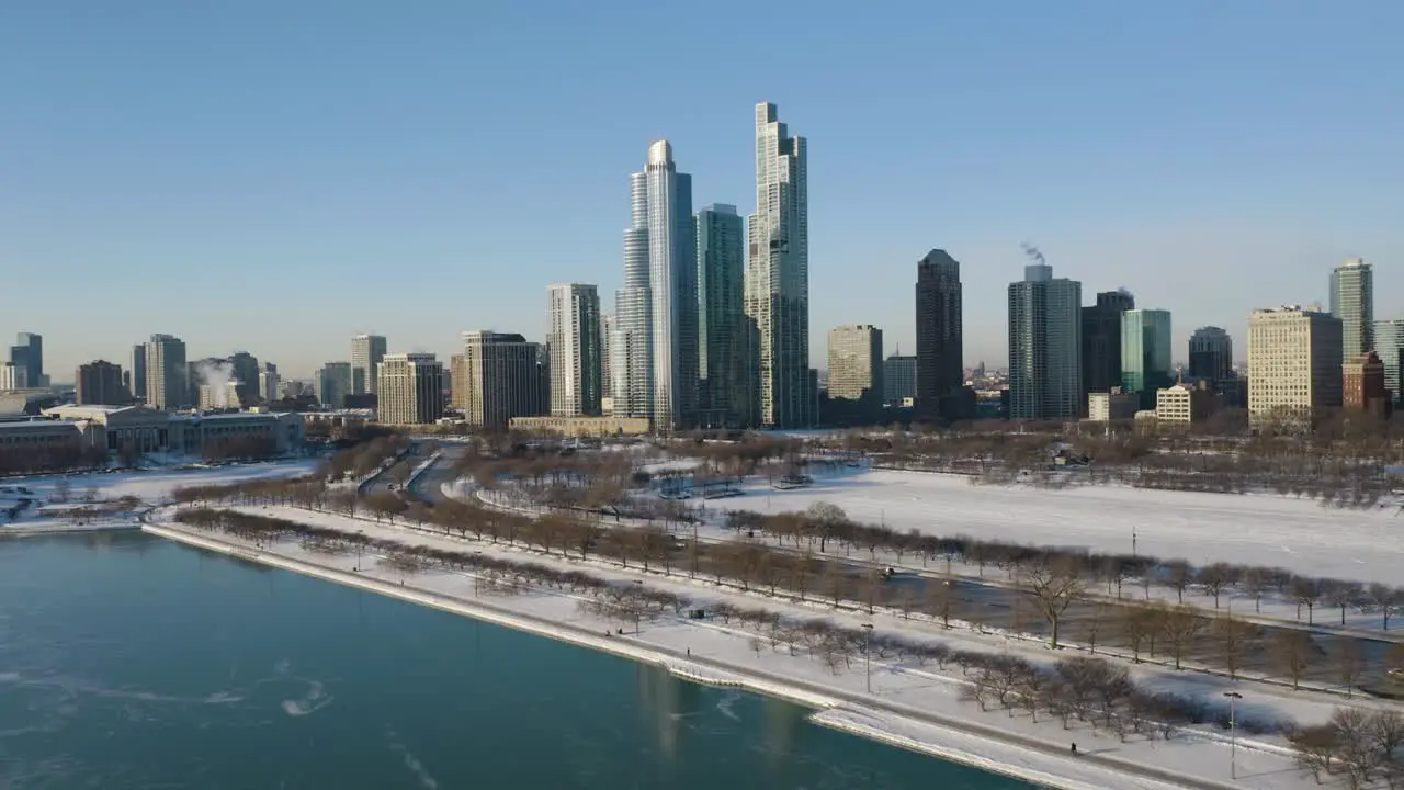
[[[0,534],[135,529],[139,526],[136,520],[139,510],[166,502],[177,488],[289,478],[314,470],[314,460],[302,458],[183,470],[0,478]],[[62,495],[63,485],[69,489],[67,496]],[[115,509],[114,505],[124,496],[135,496],[139,506],[132,512]],[[29,503],[11,520],[8,512],[24,500]],[[73,512],[87,507],[110,512],[95,517],[73,517]]]

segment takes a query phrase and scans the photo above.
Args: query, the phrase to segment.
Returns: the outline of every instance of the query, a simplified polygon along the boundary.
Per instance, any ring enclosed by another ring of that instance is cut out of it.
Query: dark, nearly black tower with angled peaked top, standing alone
[[[960,263],[931,250],[917,263],[917,413],[966,419],[958,398],[965,387],[960,335]]]

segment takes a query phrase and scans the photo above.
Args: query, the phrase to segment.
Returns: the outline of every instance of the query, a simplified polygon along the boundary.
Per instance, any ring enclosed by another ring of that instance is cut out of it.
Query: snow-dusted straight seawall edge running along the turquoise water
[[[577,626],[550,621],[487,603],[445,596],[420,589],[417,586],[407,586],[404,583],[395,585],[388,581],[376,579],[371,575],[345,572],[326,565],[307,562],[305,559],[291,558],[275,551],[240,545],[219,537],[198,534],[194,530],[187,530],[174,524],[145,523],[142,524],[142,530],[166,540],[206,551],[215,551],[250,562],[258,562],[261,565],[340,583],[343,586],[385,595],[407,603],[430,606],[441,611],[486,621],[559,642],[573,644],[587,649],[602,651],[619,658],[651,663],[665,669],[675,678],[694,683],[713,687],[740,689],[761,696],[782,699],[810,708],[813,713],[810,713],[806,720],[812,724],[868,738],[890,746],[918,752],[927,756],[934,756],[941,760],[1018,779],[1040,787],[1057,790],[1102,790],[1101,784],[1092,784],[1071,776],[1060,776],[1036,768],[1011,765],[981,756],[977,751],[979,742],[994,742],[1000,746],[1026,749],[1054,759],[1067,759],[1061,755],[1053,755],[1047,745],[1021,742],[1024,738],[1018,734],[1001,732],[988,725],[946,720],[945,717],[932,714],[927,714],[924,718],[917,718],[914,715],[904,714],[900,710],[894,710],[893,707],[879,710],[865,706],[862,700],[858,700],[848,693],[827,693],[823,689],[814,689],[814,685],[806,680],[776,678],[768,672],[761,672],[748,666],[736,666],[723,661],[698,661],[694,658],[684,658],[681,655],[674,655],[675,651],[668,648],[633,642],[628,634],[623,637],[601,637],[594,631],[587,631]],[[972,744],[972,749],[949,746],[942,742],[932,742],[929,739],[906,735],[900,731],[903,728],[935,730],[946,735],[946,741],[970,739],[976,744]],[[1130,766],[1123,768],[1116,763],[1101,762],[1099,768],[1123,775],[1127,779],[1134,777],[1140,780],[1137,786],[1206,789],[1228,787],[1227,784],[1219,784],[1202,779],[1172,776],[1161,770],[1134,770]]]

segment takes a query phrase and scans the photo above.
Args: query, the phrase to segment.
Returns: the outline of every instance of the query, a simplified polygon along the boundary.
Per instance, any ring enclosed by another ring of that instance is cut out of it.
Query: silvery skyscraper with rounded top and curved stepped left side
[[[692,176],[678,173],[673,146],[649,146],[643,173],[629,177],[625,287],[611,339],[614,413],[643,416],[660,432],[688,427],[696,408],[698,305]]]

